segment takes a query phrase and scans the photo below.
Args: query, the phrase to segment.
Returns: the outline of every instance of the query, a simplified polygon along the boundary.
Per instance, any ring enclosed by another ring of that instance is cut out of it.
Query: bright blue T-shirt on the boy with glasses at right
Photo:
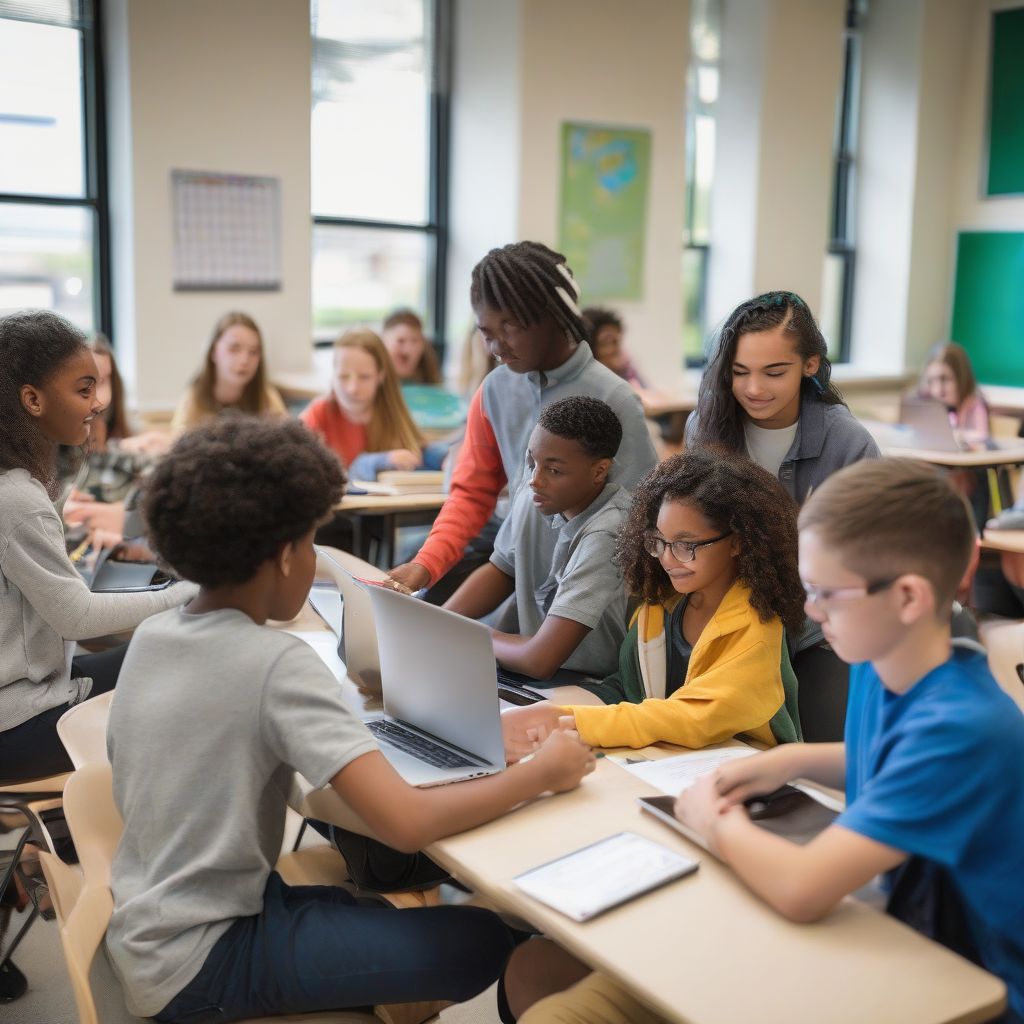
[[[1024,1014],[1024,715],[956,650],[905,693],[850,672],[838,824],[945,867],[984,966]]]

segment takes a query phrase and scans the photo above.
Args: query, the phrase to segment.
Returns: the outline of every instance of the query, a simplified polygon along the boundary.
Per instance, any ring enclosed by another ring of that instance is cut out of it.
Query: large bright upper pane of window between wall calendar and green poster
[[[313,0],[313,214],[428,216],[429,0]]]

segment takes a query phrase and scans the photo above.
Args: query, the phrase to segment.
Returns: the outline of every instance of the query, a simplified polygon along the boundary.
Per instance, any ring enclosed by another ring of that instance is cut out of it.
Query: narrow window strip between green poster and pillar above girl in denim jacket
[[[721,0],[693,0],[690,66],[686,76],[686,213],[682,266],[683,356],[687,366],[702,366],[705,361],[721,17]]]

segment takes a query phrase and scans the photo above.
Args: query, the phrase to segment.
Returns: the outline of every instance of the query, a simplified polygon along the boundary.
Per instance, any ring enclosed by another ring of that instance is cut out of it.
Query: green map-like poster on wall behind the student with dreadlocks
[[[566,123],[561,141],[558,247],[584,303],[642,299],[650,132]]]

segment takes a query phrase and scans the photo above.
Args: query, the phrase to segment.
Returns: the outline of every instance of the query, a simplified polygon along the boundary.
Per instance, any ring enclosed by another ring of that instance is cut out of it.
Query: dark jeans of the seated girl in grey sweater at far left
[[[127,650],[128,645],[122,644],[98,654],[82,654],[71,663],[72,678],[88,676],[92,680],[90,697],[113,690]],[[67,710],[68,705],[58,705],[0,732],[0,785],[74,770],[57,736],[57,719]]]

